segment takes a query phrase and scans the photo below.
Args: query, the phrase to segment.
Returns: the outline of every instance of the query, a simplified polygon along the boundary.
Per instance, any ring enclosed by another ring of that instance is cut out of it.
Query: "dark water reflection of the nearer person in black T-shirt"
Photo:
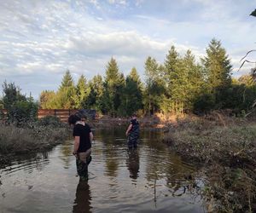
[[[76,198],[73,202],[73,213],[91,212],[91,193],[87,181],[79,181]]]

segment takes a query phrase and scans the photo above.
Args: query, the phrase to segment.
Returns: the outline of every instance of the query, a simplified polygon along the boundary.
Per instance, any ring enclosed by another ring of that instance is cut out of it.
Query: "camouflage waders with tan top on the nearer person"
[[[80,181],[88,181],[88,165],[90,164],[90,152],[78,153],[76,159],[77,171],[80,176]]]

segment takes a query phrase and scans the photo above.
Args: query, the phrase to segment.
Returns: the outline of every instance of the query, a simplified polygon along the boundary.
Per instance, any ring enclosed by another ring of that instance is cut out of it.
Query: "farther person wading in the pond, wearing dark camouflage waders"
[[[131,117],[131,122],[125,132],[125,135],[128,136],[128,147],[137,148],[137,139],[140,135],[139,123],[137,121],[136,114],[133,114]]]

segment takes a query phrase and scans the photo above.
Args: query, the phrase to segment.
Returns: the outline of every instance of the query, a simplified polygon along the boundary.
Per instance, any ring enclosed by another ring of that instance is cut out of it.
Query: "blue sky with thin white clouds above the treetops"
[[[255,66],[238,72],[256,49],[255,8],[256,0],[0,0],[0,84],[14,82],[38,100],[67,70],[75,83],[81,74],[104,77],[111,57],[125,76],[135,66],[143,80],[148,56],[164,63],[174,45],[200,61],[213,37],[239,78]]]

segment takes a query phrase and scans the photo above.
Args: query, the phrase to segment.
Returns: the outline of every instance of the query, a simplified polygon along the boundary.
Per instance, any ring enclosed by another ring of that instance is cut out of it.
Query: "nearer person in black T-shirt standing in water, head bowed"
[[[82,121],[79,115],[71,115],[68,118],[68,123],[73,125],[73,155],[76,157],[76,165],[80,181],[87,181],[88,165],[91,161],[90,153],[93,134],[90,130],[90,126]]]

